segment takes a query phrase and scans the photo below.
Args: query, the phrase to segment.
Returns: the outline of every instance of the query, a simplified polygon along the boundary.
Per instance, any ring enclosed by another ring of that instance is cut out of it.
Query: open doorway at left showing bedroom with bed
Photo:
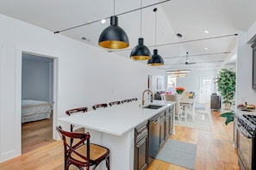
[[[22,154],[53,142],[53,61],[22,53]]]

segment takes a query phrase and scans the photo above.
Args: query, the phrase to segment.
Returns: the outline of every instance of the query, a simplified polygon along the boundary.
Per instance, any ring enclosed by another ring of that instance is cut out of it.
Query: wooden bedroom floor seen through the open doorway
[[[22,124],[22,154],[52,143],[53,117]]]

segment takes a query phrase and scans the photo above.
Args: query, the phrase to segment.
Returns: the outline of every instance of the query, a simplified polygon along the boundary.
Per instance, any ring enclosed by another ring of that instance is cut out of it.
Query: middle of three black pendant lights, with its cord
[[[134,47],[130,54],[130,58],[134,60],[147,60],[151,58],[151,52],[143,43],[144,39],[141,38],[141,16],[142,16],[142,3],[140,0],[140,38],[138,39],[138,45]]]

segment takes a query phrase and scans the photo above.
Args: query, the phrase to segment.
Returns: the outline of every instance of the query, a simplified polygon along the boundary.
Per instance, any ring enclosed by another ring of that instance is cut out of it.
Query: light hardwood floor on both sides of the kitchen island
[[[212,112],[212,131],[200,131],[176,126],[176,134],[170,138],[197,144],[196,170],[236,170],[239,169],[237,151],[232,146],[233,123],[224,124],[219,112]],[[111,159],[111,158],[110,158]],[[1,170],[59,170],[63,166],[63,145],[53,141],[0,164]],[[184,170],[164,161],[154,160],[147,170]]]

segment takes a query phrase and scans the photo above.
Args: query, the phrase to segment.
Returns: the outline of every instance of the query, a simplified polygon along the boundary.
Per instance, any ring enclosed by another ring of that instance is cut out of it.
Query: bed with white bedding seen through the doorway
[[[22,100],[22,124],[45,118],[51,118],[51,113],[51,105],[47,101]]]

